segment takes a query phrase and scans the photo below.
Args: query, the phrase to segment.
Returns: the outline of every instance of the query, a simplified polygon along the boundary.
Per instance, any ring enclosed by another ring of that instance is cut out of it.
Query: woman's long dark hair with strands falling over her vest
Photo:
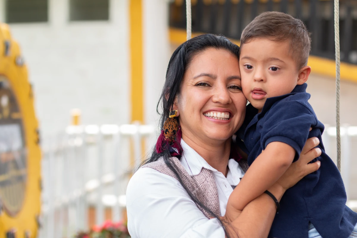
[[[225,36],[222,35],[212,35],[204,34],[193,37],[190,40],[187,40],[183,44],[177,47],[177,49],[172,54],[169,65],[167,66],[166,71],[166,80],[164,87],[161,92],[161,97],[157,103],[157,113],[161,115],[160,118],[160,131],[164,126],[164,122],[169,117],[169,112],[174,105],[176,96],[180,93],[181,82],[183,80],[183,75],[185,74],[187,67],[190,65],[192,58],[198,54],[201,54],[203,51],[214,48],[217,50],[227,50],[235,55],[239,59],[239,46],[228,40]],[[161,110],[159,108],[161,107]],[[167,167],[171,169],[172,172],[178,178],[178,181],[181,183],[182,187],[186,190],[193,202],[196,203],[197,207],[205,209],[206,212],[212,215],[212,217],[218,218],[223,228],[225,229],[226,236],[229,235],[226,232],[226,228],[223,225],[219,214],[214,214],[208,207],[206,207],[195,194],[190,191],[190,189],[185,186],[182,182],[183,174],[180,169],[177,168],[176,164],[170,159],[171,153],[174,149],[170,146],[166,146],[162,153],[158,153],[156,148],[154,148],[151,157],[147,158],[142,165],[157,161],[159,158],[163,158]],[[181,150],[182,151],[182,150]],[[181,158],[180,155],[176,156],[178,159]]]

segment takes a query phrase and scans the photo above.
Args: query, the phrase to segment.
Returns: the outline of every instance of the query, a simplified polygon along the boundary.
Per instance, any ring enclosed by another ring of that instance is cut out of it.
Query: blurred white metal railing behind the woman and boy
[[[122,219],[126,206],[125,189],[130,174],[143,157],[142,138],[154,138],[148,125],[69,126],[64,134],[42,146],[42,221],[39,238],[73,237],[87,230],[88,207],[95,207],[95,224],[102,224],[105,208],[112,208],[111,219]],[[342,177],[348,198],[357,199],[357,127],[341,128]],[[336,127],[323,133],[326,153],[336,162]],[[354,167],[355,169],[352,169]],[[351,189],[352,188],[352,189]],[[357,209],[357,201],[348,206]]]

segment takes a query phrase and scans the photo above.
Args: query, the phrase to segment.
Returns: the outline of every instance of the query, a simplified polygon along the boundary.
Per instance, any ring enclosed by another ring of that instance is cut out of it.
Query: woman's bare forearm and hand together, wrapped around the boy
[[[270,191],[279,201],[286,189],[294,186],[307,174],[316,171],[320,167],[320,161],[309,164],[312,159],[321,155],[316,137],[307,140],[298,161],[292,163],[278,181],[271,186]],[[246,192],[246,191],[239,191]],[[267,237],[271,224],[275,217],[276,205],[273,199],[263,193],[247,204],[243,211],[234,209],[228,200],[227,210],[223,221],[227,222],[227,230],[231,237]]]

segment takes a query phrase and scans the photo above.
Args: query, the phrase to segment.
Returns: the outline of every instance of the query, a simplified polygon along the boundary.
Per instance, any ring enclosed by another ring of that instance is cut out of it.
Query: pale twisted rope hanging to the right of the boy
[[[337,168],[341,172],[341,134],[340,134],[340,13],[339,1],[334,2],[335,9],[335,51],[336,51],[336,138]]]

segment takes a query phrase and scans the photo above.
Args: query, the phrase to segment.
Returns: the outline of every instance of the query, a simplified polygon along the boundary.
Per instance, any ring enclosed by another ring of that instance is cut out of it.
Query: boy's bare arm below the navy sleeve
[[[270,188],[290,166],[295,153],[295,150],[286,143],[269,143],[231,193],[229,199],[233,199],[234,202],[231,204],[235,209],[242,210],[250,201]]]

